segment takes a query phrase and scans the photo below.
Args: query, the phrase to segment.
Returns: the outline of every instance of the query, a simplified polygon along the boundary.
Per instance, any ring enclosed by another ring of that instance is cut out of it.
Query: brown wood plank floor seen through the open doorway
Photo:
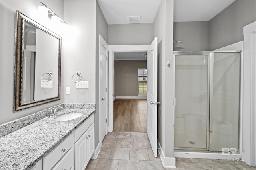
[[[147,132],[147,100],[114,100],[114,131]]]

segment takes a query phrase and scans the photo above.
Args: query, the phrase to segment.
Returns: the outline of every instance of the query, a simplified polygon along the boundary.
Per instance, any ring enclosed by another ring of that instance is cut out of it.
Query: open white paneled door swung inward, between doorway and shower
[[[157,157],[157,38],[149,46],[147,58],[147,133],[154,156]]]

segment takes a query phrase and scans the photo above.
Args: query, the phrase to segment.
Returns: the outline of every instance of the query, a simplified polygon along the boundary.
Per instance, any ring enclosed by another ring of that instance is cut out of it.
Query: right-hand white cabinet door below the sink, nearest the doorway
[[[86,164],[87,164],[95,150],[94,123],[88,128],[86,133],[87,133],[87,149],[86,149],[86,152],[87,152]]]

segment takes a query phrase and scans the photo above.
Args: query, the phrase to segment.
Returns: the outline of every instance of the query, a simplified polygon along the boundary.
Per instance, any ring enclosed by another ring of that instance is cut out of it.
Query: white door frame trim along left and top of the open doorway
[[[114,53],[148,51],[149,45],[108,45],[108,132],[114,129]]]

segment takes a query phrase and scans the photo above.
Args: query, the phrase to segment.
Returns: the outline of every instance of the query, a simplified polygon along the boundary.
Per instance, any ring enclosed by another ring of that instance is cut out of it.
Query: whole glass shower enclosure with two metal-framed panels
[[[239,151],[240,51],[174,51],[174,149]]]

